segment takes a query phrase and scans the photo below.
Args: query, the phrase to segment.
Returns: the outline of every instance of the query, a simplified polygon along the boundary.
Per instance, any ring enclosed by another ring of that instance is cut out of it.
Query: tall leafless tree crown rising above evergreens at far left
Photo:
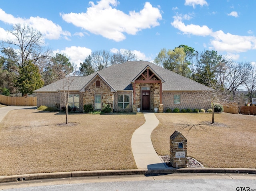
[[[50,58],[52,52],[43,47],[43,36],[34,28],[26,24],[15,24],[12,30],[8,30],[13,37],[5,42],[8,46],[18,49],[20,62],[18,65],[24,67],[26,61],[36,63],[40,58]]]

